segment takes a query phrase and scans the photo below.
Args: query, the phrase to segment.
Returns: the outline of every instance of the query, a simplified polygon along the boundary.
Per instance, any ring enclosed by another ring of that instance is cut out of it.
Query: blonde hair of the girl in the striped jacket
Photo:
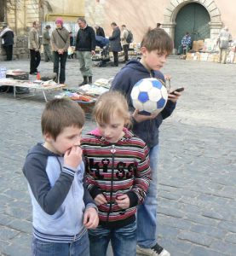
[[[93,116],[98,124],[107,124],[114,113],[124,118],[125,125],[130,125],[130,112],[125,97],[118,91],[110,90],[103,93],[95,103]]]

